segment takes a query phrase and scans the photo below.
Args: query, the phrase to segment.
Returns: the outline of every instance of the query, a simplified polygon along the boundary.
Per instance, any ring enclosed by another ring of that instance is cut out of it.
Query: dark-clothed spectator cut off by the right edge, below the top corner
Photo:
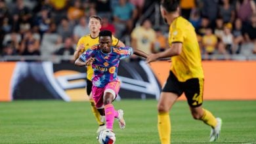
[[[253,54],[256,54],[256,13],[251,16],[251,23],[245,29],[245,40],[253,43]]]

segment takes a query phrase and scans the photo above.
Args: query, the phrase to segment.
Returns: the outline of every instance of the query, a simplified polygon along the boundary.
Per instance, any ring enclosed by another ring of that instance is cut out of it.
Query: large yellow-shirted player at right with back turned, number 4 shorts
[[[221,118],[203,109],[203,69],[200,48],[194,27],[179,15],[179,1],[161,1],[161,16],[169,24],[169,46],[167,50],[150,54],[147,62],[171,57],[171,69],[158,101],[158,134],[162,144],[171,143],[171,121],[169,111],[184,92],[192,117],[211,126],[210,141],[218,139]]]

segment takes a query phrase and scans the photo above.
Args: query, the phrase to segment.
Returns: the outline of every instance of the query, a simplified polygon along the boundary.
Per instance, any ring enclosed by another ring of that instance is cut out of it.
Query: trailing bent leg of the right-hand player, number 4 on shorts
[[[215,134],[210,137],[210,141],[215,141],[219,137],[221,130],[221,119],[214,117],[210,111],[202,107],[203,79],[189,79],[184,83],[184,86],[192,117],[196,120],[202,120],[205,124],[211,126],[213,130],[217,128]]]

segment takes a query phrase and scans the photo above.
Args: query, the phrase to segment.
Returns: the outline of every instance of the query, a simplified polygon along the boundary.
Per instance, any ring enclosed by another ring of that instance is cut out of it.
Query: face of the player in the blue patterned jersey
[[[102,36],[100,37],[98,43],[100,44],[100,49],[102,52],[108,54],[110,52],[110,48],[112,46],[112,37],[110,36]]]

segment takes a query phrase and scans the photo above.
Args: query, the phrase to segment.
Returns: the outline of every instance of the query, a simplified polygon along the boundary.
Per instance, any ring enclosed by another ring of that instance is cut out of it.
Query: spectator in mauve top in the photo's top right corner
[[[248,24],[251,15],[256,13],[255,2],[253,0],[236,1],[236,14],[243,24]]]

